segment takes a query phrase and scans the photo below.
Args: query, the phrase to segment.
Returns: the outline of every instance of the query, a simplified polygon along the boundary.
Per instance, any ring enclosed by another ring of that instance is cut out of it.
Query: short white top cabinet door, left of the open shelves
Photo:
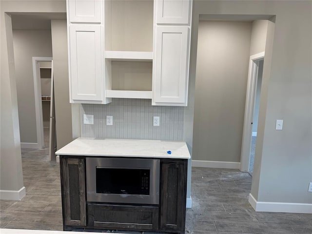
[[[101,0],[68,0],[67,3],[70,22],[101,22]]]

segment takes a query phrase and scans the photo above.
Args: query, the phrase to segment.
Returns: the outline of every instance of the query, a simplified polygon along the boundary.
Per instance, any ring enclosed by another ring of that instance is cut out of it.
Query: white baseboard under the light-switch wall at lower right
[[[252,194],[249,194],[248,201],[259,212],[312,214],[312,204],[309,203],[263,202],[257,201]]]

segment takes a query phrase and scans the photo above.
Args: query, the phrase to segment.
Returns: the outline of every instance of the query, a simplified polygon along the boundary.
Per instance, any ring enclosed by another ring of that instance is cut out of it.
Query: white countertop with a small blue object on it
[[[59,149],[56,155],[191,158],[185,141],[80,137]]]

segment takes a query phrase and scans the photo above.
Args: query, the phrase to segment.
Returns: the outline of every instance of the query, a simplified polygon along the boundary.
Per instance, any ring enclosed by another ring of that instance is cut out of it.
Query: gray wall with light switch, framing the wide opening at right
[[[193,7],[185,124],[193,124],[199,14],[276,16],[275,24],[268,23],[251,193],[257,201],[311,204],[312,2],[195,0]],[[274,130],[276,119],[284,119],[282,131]],[[190,125],[184,128],[190,146],[192,131]]]

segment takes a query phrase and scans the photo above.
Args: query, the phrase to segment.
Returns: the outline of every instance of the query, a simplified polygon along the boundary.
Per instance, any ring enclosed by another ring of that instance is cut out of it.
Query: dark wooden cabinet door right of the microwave
[[[161,161],[160,229],[185,229],[187,160]]]

